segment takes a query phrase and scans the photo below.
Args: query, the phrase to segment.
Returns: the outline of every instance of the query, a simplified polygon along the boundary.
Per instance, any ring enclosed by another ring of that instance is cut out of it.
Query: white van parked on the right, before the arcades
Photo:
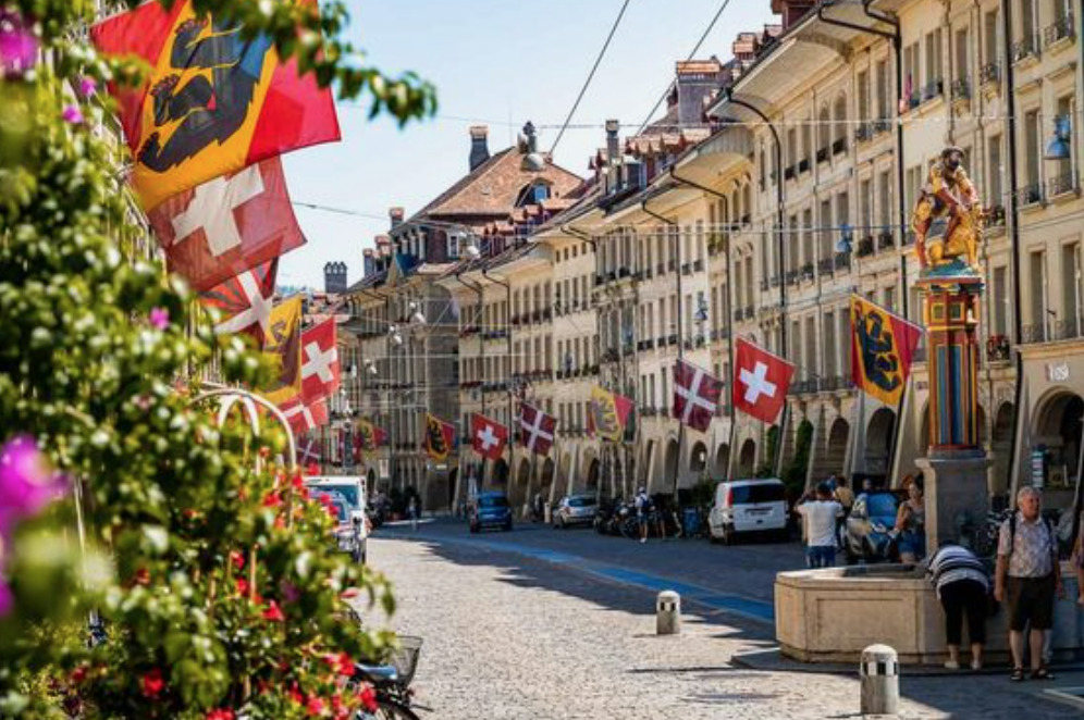
[[[730,545],[742,533],[787,533],[786,488],[781,480],[730,480],[716,485],[707,517],[712,542]]]

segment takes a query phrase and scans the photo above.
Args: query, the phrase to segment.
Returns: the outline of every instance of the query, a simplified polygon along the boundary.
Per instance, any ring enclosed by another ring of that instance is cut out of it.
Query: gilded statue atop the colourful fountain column
[[[929,166],[911,220],[922,269],[936,274],[977,274],[984,218],[978,193],[963,169],[963,150],[945,148]],[[931,238],[935,223],[945,225],[945,232]]]

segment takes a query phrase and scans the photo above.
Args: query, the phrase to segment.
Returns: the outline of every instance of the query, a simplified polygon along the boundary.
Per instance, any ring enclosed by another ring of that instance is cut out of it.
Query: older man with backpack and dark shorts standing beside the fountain
[[[1028,633],[1033,680],[1052,680],[1043,658],[1044,633],[1054,621],[1055,595],[1064,597],[1058,563],[1058,536],[1040,514],[1043,494],[1035,487],[1017,493],[1017,508],[1001,524],[997,544],[994,597],[1008,599],[1011,680],[1024,679],[1024,628]]]

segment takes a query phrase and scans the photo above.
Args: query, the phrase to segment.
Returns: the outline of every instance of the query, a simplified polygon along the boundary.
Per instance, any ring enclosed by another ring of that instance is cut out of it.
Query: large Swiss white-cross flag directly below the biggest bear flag
[[[147,219],[170,271],[197,291],[305,245],[279,158],[174,195]]]

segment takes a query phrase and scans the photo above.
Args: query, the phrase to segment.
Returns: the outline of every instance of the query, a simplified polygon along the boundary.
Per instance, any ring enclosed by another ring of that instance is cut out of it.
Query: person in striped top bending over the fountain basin
[[[945,667],[960,669],[960,642],[963,616],[968,616],[968,640],[971,641],[971,669],[983,668],[983,645],[986,644],[986,609],[989,605],[990,581],[986,566],[974,553],[954,543],[945,543],[929,558],[931,582],[945,610],[945,638],[949,659]]]

